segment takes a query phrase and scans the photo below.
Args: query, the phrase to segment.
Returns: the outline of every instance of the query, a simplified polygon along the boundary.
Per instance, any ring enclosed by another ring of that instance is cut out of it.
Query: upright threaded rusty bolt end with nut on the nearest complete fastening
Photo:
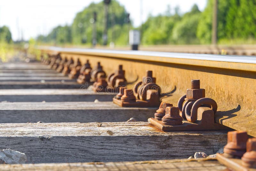
[[[191,88],[187,89],[188,99],[199,99],[205,97],[205,89],[200,89],[200,80],[191,80]]]

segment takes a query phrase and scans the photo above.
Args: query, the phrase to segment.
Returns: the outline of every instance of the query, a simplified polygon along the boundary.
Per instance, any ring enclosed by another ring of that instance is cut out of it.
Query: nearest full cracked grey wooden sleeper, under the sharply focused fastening
[[[226,131],[162,132],[148,122],[0,124],[0,148],[23,152],[28,163],[108,162],[214,154]]]

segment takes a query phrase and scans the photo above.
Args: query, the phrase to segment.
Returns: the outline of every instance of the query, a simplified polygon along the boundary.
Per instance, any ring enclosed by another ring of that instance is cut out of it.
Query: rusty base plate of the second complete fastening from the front
[[[136,100],[136,102],[122,102],[119,99],[113,98],[113,103],[122,107],[159,107],[159,104],[152,105],[148,101]]]

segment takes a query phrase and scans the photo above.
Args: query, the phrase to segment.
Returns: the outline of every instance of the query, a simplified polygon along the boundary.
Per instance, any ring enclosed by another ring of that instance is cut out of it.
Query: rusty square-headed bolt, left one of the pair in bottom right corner
[[[241,158],[246,151],[248,135],[244,131],[229,131],[228,143],[224,147],[224,156],[227,158]]]

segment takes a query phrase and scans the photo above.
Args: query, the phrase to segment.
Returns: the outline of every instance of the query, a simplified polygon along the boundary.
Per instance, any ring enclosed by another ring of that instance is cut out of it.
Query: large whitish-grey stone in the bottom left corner
[[[0,150],[0,159],[6,164],[24,164],[27,160],[27,156],[15,150],[4,149]]]

